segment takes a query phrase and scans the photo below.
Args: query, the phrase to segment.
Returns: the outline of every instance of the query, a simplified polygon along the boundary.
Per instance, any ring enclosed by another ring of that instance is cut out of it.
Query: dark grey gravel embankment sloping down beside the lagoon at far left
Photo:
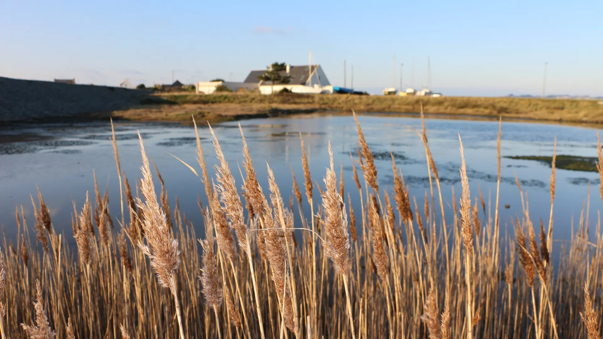
[[[0,123],[123,110],[147,96],[146,91],[119,87],[0,77]]]

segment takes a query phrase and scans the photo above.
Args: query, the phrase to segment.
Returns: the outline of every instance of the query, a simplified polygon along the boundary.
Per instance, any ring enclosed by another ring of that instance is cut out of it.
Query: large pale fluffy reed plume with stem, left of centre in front
[[[141,221],[144,237],[147,244],[142,242],[138,246],[145,255],[148,256],[151,267],[157,273],[157,280],[163,288],[169,288],[174,296],[176,315],[178,318],[178,328],[180,329],[180,339],[185,338],[182,326],[182,316],[180,315],[180,303],[174,279],[174,271],[180,265],[180,250],[178,250],[178,241],[174,239],[165,212],[160,208],[153,184],[153,174],[149,166],[147,153],[145,152],[144,142],[140,132],[138,133],[140,142],[140,154],[142,156],[142,180],[140,180],[140,191],[145,198],[144,203],[137,198],[137,205],[142,210],[144,219]]]

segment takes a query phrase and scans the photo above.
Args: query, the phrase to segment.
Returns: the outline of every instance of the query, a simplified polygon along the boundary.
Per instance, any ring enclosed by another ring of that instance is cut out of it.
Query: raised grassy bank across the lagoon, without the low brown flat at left
[[[397,97],[368,95],[259,95],[223,93],[195,95],[166,94],[163,98],[178,105],[203,106],[219,113],[221,107],[238,106],[263,112],[268,109],[341,110],[356,112],[407,112],[485,116],[504,119],[603,123],[603,105],[596,100],[552,100],[536,98],[479,97]]]

